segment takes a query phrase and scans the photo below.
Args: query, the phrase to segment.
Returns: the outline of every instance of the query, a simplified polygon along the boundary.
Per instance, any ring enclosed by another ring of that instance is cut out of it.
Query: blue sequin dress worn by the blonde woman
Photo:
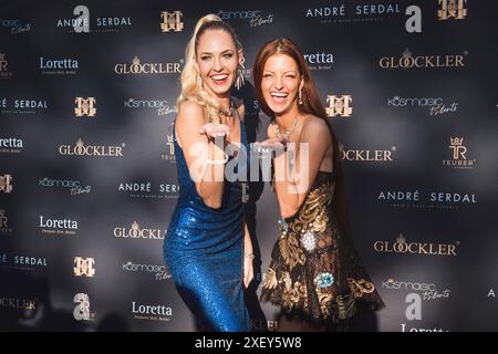
[[[246,128],[239,122],[247,152]],[[209,208],[197,194],[184,152],[174,140],[179,199],[164,241],[165,263],[200,330],[250,331],[242,284],[241,184],[226,180],[221,207]]]

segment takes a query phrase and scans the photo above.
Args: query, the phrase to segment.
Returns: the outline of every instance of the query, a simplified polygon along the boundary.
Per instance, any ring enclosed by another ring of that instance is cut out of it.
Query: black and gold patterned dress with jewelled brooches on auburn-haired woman
[[[280,221],[261,300],[286,314],[336,323],[360,305],[384,308],[353,242],[338,229],[332,211],[333,173],[319,171],[301,209]]]

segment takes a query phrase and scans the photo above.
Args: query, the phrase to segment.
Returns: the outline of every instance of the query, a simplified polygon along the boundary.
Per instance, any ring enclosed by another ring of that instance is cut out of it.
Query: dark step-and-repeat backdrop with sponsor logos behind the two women
[[[1,1],[0,330],[194,331],[163,240],[178,198],[170,126],[197,20],[251,65],[289,37],[344,145],[355,242],[387,308],[357,330],[498,330],[497,4],[393,1]],[[260,250],[255,330],[278,238],[268,184],[246,204]]]

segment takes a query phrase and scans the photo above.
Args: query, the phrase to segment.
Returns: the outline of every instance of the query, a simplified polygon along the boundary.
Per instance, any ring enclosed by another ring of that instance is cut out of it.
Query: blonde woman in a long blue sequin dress
[[[251,330],[243,289],[253,278],[252,244],[241,184],[225,177],[228,162],[246,157],[245,108],[230,96],[243,82],[242,63],[231,27],[214,14],[201,18],[186,49],[173,126],[180,196],[164,258],[203,331]]]

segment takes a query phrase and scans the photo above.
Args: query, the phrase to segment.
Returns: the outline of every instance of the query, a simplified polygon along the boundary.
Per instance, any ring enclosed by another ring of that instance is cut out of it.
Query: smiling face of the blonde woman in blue
[[[197,45],[196,63],[206,90],[215,96],[229,96],[241,61],[230,33],[222,29],[204,32]]]

